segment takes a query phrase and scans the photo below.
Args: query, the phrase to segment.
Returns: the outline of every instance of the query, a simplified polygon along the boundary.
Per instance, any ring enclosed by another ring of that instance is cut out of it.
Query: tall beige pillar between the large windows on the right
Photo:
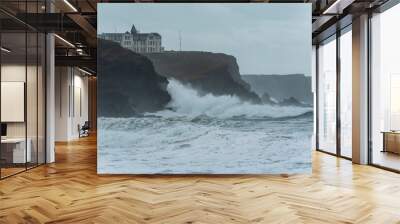
[[[368,163],[368,15],[353,19],[353,162]]]

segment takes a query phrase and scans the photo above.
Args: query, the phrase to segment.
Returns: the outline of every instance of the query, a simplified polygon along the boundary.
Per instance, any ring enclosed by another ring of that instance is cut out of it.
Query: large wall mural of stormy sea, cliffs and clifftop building
[[[309,4],[98,8],[98,173],[311,172]]]

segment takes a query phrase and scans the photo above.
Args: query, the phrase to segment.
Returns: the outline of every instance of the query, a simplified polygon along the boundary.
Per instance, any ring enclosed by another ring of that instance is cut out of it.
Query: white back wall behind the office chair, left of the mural
[[[78,125],[88,120],[88,78],[76,68],[56,67],[55,120],[56,141],[79,138]]]

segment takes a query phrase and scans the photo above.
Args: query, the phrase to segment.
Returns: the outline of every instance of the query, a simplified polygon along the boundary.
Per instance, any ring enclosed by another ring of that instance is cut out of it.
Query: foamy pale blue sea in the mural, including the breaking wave
[[[168,109],[98,120],[98,173],[311,172],[312,108],[199,95],[170,80]]]

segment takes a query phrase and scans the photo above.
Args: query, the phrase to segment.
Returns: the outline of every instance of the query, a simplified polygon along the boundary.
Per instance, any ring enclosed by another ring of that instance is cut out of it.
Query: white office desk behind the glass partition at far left
[[[25,138],[6,138],[1,139],[2,147],[13,147],[13,163],[26,163],[32,161],[31,139],[27,139],[28,143],[25,151]]]

